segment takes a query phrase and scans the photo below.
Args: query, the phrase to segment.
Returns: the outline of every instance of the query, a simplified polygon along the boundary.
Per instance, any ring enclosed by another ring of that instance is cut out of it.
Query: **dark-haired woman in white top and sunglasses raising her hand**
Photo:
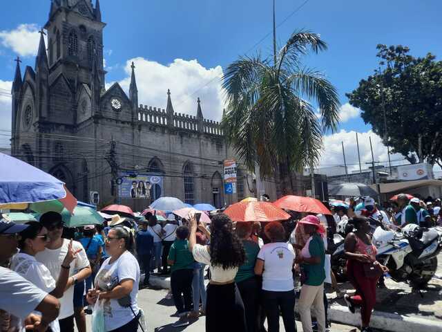
[[[59,299],[63,296],[66,284],[68,284],[70,263],[76,258],[77,252],[74,252],[71,241],[68,253],[61,264],[59,277],[55,282],[48,268],[35,259],[35,255],[46,248],[48,230],[37,221],[29,221],[26,224],[29,226],[20,233],[20,252],[12,257],[11,270],[15,270],[42,291]],[[21,328],[22,326],[17,327]],[[58,320],[51,322],[49,327],[52,332],[60,331]]]

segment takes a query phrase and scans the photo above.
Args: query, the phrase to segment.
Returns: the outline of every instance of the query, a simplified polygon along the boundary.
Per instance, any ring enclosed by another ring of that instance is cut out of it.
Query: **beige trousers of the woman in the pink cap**
[[[298,311],[304,332],[313,331],[311,329],[311,309],[313,309],[318,322],[318,332],[325,332],[324,283],[320,286],[302,285]]]

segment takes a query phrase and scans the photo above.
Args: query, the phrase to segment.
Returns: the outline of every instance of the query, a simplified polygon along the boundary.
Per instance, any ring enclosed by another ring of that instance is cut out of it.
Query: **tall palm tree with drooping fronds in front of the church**
[[[336,130],[340,103],[323,74],[300,63],[303,55],[327,49],[319,35],[295,32],[278,53],[274,40],[273,65],[271,57],[244,56],[224,72],[222,127],[249,170],[258,163],[262,176],[279,173],[280,191],[290,194],[293,172],[318,163],[323,133]]]

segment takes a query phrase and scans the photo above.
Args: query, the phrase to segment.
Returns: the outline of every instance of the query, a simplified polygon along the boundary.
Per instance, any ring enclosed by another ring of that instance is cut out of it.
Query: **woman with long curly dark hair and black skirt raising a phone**
[[[211,271],[207,287],[206,331],[247,331],[244,304],[235,284],[238,268],[245,261],[245,252],[231,220],[225,214],[213,216],[209,233],[204,225],[197,225],[195,216],[191,216],[190,228],[189,250],[196,261],[208,264]],[[210,245],[196,243],[197,228],[210,238]]]

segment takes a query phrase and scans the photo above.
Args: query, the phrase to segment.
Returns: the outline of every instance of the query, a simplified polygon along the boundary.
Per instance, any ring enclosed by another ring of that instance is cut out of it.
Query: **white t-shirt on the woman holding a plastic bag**
[[[111,291],[124,279],[133,280],[130,302],[135,315],[140,309],[137,304],[138,283],[140,282],[140,266],[131,252],[125,251],[116,261],[109,264],[111,257],[103,262],[102,267],[95,277],[95,284],[100,291]],[[128,302],[128,298],[126,298]],[[121,306],[117,299],[102,299],[104,309],[104,326],[106,331],[118,329],[120,326],[131,322],[135,317],[131,308]],[[122,299],[120,299],[122,302]]]

